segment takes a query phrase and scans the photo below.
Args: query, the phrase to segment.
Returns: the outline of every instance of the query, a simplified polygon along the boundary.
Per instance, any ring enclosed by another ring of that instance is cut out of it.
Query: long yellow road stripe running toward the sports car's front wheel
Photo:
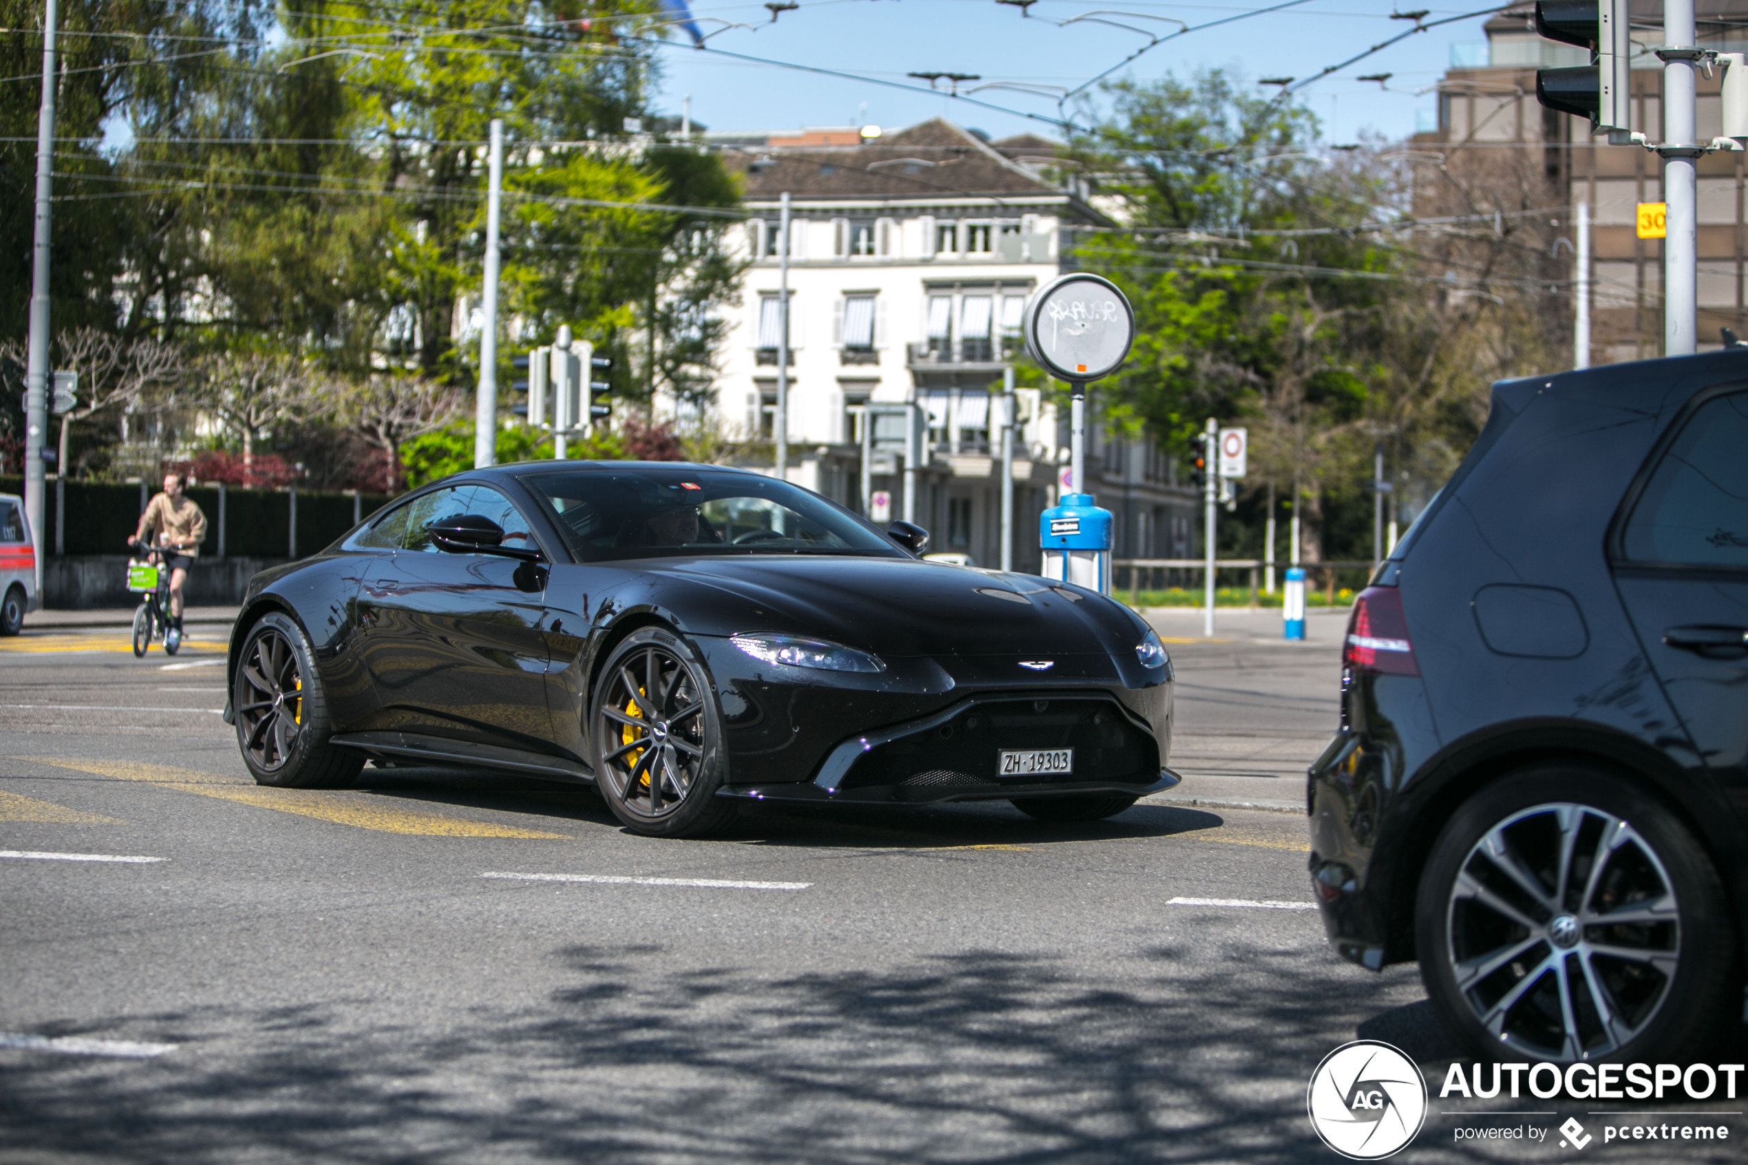
[[[171,765],[147,765],[142,762],[121,760],[68,760],[58,756],[21,756],[37,765],[54,765],[89,772],[117,781],[140,781],[156,784],[161,789],[196,793],[238,805],[273,809],[278,812],[316,817],[334,824],[350,824],[378,833],[406,833],[413,837],[526,837],[558,838],[566,833],[542,833],[538,830],[521,830],[517,826],[491,824],[488,821],[468,821],[467,817],[440,817],[437,814],[407,812],[365,800],[362,793],[318,791],[318,789],[274,789],[225,777],[215,772],[198,772],[194,769],[175,769]]]

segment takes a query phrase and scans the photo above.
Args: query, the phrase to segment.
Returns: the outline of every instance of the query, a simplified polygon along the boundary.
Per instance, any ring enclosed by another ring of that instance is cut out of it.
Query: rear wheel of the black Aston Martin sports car
[[[257,784],[337,789],[364,769],[364,753],[329,742],[332,723],[315,651],[302,627],[278,611],[250,627],[231,676],[236,741]]]

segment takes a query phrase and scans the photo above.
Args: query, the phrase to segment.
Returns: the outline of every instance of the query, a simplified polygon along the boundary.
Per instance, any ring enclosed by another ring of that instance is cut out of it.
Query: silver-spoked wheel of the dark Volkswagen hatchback
[[[1421,875],[1416,943],[1433,1010],[1479,1057],[1668,1062],[1725,1029],[1717,870],[1599,769],[1538,765],[1465,802]]]

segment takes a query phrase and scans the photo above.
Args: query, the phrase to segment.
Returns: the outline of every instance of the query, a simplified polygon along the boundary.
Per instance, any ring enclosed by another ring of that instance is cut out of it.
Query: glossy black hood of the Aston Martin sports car
[[[746,625],[697,629],[715,634],[785,631],[890,657],[1105,655],[1147,634],[1126,608],[1079,587],[916,559],[697,557],[654,569],[752,604],[722,610]]]

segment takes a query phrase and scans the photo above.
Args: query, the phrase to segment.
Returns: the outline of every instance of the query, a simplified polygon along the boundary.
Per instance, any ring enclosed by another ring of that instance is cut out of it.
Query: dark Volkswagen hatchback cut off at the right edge
[[[1739,1031],[1748,349],[1505,381],[1355,603],[1309,774],[1335,948],[1479,1055]]]

